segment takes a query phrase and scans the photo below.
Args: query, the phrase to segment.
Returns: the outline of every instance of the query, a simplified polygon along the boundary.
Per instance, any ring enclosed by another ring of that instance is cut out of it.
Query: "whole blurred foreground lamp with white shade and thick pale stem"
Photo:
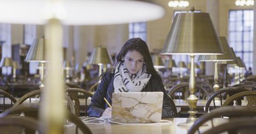
[[[102,25],[145,22],[164,15],[163,7],[142,1],[115,0],[3,0],[0,1],[1,23],[45,24],[46,59],[49,60],[44,102],[40,109],[44,133],[62,133],[63,105],[62,25]],[[81,17],[81,13],[83,16]],[[57,109],[57,110],[56,110]]]

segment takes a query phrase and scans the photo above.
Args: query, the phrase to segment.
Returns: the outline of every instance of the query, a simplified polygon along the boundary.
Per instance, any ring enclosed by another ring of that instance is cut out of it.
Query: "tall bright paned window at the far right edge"
[[[229,47],[246,68],[253,67],[253,10],[229,11]]]

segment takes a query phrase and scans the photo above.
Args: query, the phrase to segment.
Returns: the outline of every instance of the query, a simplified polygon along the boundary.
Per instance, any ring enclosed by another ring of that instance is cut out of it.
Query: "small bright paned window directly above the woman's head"
[[[129,39],[139,37],[147,42],[147,23],[138,22],[129,24]]]

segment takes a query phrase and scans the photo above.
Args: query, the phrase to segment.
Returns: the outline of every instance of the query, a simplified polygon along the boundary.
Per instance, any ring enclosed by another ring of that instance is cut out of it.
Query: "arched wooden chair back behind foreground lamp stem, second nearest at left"
[[[13,105],[13,106],[18,106],[20,104],[22,104],[23,102],[25,102],[27,99],[29,99],[29,103],[32,103],[32,99],[35,95],[41,95],[42,90],[35,90],[35,91],[31,91],[25,95],[23,95],[22,97],[20,97],[20,99]],[[65,95],[66,97],[66,101],[67,101],[67,105],[69,106],[68,109],[72,112],[75,113],[75,105],[73,103],[73,101],[70,99],[70,97],[68,97],[67,95]],[[39,99],[38,99],[39,100]],[[34,101],[34,102],[39,102],[39,101]]]

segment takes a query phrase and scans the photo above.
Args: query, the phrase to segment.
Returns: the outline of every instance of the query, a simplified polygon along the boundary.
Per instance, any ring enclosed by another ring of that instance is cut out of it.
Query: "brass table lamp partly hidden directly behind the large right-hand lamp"
[[[231,61],[234,60],[234,57],[231,54],[231,50],[228,46],[228,41],[225,37],[219,37],[222,48],[225,52],[224,55],[200,55],[198,57],[198,61],[213,61],[214,62],[214,92],[220,90],[220,86],[218,85],[218,61]]]

